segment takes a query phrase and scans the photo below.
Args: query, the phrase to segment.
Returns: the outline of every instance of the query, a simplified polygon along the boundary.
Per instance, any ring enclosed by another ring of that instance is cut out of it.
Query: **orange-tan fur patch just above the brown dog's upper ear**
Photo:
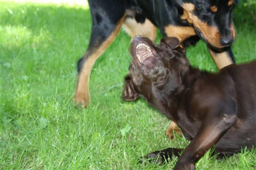
[[[184,41],[190,36],[196,35],[196,32],[193,27],[168,25],[165,26],[164,29],[167,36],[177,37],[180,40],[180,42]]]

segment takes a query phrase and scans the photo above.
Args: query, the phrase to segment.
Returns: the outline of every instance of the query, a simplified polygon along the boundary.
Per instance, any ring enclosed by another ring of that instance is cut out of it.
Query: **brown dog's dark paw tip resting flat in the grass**
[[[148,161],[155,164],[162,164],[165,161],[169,161],[168,158],[171,158],[171,156],[168,155],[168,152],[161,150],[154,151],[144,157],[140,157],[140,162]]]

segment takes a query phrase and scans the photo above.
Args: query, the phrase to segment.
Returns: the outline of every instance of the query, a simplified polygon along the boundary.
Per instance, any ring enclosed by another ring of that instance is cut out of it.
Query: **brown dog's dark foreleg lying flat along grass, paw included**
[[[148,161],[153,161],[154,163],[164,163],[165,160],[171,159],[173,156],[180,156],[180,153],[183,149],[177,149],[177,148],[167,148],[164,150],[154,151],[150,154],[146,155],[144,158],[141,157],[141,159],[147,159]]]

